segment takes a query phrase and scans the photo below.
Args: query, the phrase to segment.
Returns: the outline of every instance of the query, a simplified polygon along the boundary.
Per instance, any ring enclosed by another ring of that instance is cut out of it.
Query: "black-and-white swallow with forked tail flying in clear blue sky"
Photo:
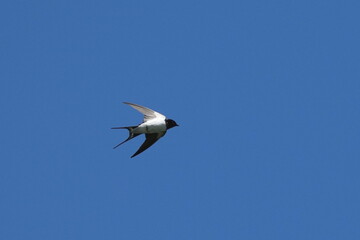
[[[116,145],[114,149],[120,146],[121,144],[129,141],[130,139],[133,139],[134,137],[137,137],[141,134],[145,134],[145,138],[146,138],[145,142],[140,146],[140,148],[136,151],[136,153],[134,153],[131,156],[132,158],[142,153],[149,147],[151,147],[157,140],[159,140],[161,137],[165,135],[168,129],[179,126],[174,120],[168,119],[161,113],[155,112],[154,110],[151,110],[149,108],[134,103],[128,103],[128,102],[124,102],[124,103],[130,105],[131,107],[135,108],[144,115],[143,122],[137,126],[111,128],[111,129],[127,129],[129,131],[129,137],[125,141]]]

